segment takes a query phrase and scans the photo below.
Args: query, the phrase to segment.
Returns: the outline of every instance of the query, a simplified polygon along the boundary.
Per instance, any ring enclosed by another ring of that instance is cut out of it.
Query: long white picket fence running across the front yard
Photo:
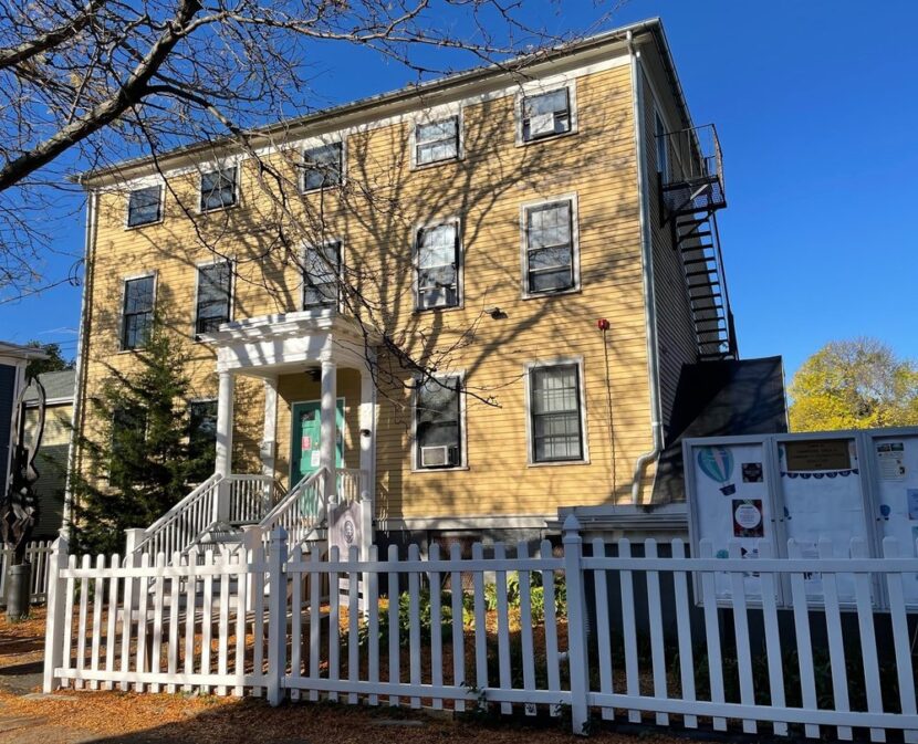
[[[918,741],[915,618],[903,591],[918,577],[910,551],[899,557],[889,539],[884,558],[779,559],[766,548],[713,558],[702,545],[706,557],[687,557],[677,539],[666,557],[646,541],[638,557],[625,539],[584,549],[578,528],[568,517],[560,557],[543,542],[534,555],[521,543],[487,555],[474,545],[470,558],[431,545],[425,558],[410,546],[407,559],[375,547],[365,559],[356,549],[323,559],[288,554],[278,528],[267,546],[253,541],[234,555],[124,565],[118,556],[77,562],[59,542],[44,689],[198,689],[272,704],[305,696],[525,715],[570,708],[575,733],[596,716],[716,730],[736,721],[745,733],[839,740],[900,731]],[[818,608],[807,607],[804,587],[814,572]],[[730,591],[718,594],[723,576]],[[855,585],[851,607],[838,601],[842,577]],[[774,601],[784,578],[787,612]],[[879,583],[885,614],[873,606]]]

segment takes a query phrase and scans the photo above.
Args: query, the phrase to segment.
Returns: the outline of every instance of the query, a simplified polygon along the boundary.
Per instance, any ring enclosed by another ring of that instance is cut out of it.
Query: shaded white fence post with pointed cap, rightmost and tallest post
[[[564,577],[567,583],[567,661],[571,668],[571,726],[586,733],[590,668],[586,648],[586,595],[583,580],[581,523],[570,514],[564,520]]]

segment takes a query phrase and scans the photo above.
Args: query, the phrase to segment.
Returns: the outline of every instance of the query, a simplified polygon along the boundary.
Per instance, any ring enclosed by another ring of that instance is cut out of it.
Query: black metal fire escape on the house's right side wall
[[[713,124],[657,135],[664,224],[681,256],[699,360],[737,359],[716,213],[727,206]],[[666,149],[663,150],[665,145]],[[664,155],[665,153],[665,155]]]

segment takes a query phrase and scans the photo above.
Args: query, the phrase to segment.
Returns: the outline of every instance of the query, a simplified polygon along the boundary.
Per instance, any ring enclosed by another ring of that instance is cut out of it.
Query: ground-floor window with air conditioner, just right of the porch
[[[428,379],[415,395],[415,463],[418,469],[462,464],[462,380]]]

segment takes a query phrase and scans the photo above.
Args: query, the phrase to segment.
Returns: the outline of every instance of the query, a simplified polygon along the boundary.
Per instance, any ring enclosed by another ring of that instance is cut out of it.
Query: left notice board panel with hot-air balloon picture
[[[776,548],[774,514],[769,496],[770,473],[765,468],[765,448],[761,442],[710,444],[692,449],[692,461],[686,468],[692,478],[696,494],[696,520],[700,534],[692,542],[708,538],[714,557],[727,558],[729,545],[737,542],[743,557],[758,557],[759,544]],[[761,598],[758,575],[743,577],[747,597]],[[714,590],[718,599],[731,596],[730,576],[717,574]]]

